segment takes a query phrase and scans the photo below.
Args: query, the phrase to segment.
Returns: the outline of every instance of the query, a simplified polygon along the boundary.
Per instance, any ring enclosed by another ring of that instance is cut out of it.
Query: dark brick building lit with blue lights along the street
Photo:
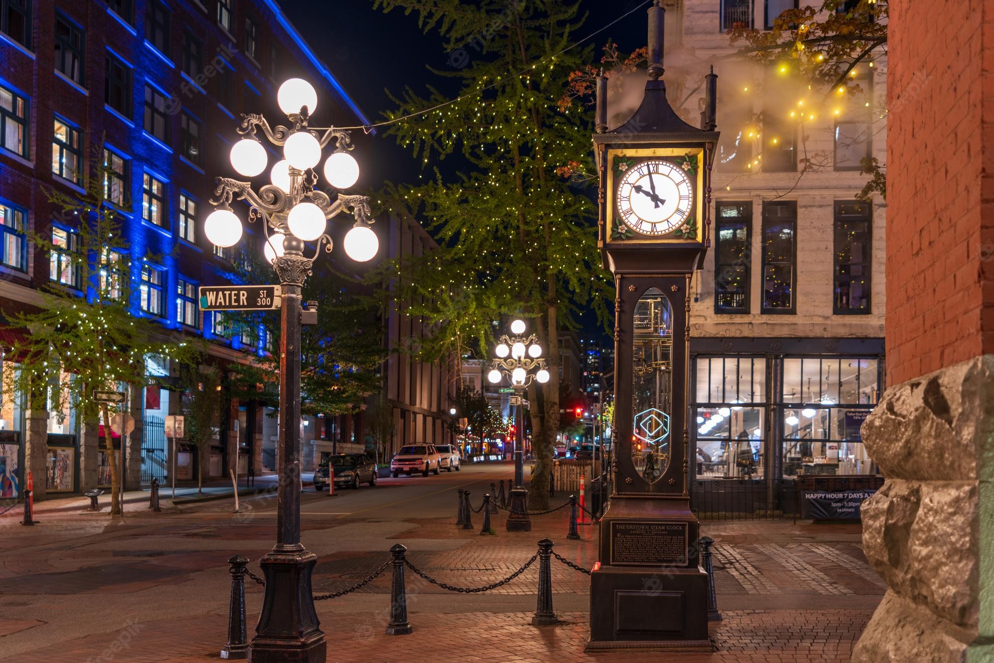
[[[4,316],[42,304],[43,284],[80,287],[30,238],[51,234],[72,250],[78,220],[58,213],[46,188],[82,194],[102,163],[140,291],[134,315],[202,334],[221,367],[264,351],[257,334],[230,337],[222,316],[198,310],[196,296],[198,286],[231,279],[241,259],[238,247],[218,249],[202,229],[214,177],[234,174],[228,153],[236,118],[278,117],[276,89],[297,76],[318,90],[322,119],[369,120],[272,0],[0,0],[0,7],[0,328]],[[239,246],[261,255],[254,225]],[[4,371],[16,366],[2,348],[20,332],[0,331]],[[151,364],[149,371],[168,382],[175,367]],[[136,418],[125,441],[130,489],[164,476],[163,419],[179,409],[168,389],[132,385],[129,398]],[[219,409],[211,476],[227,476],[236,445],[240,473],[258,473],[269,442],[263,408],[226,400]],[[2,393],[0,498],[20,495],[27,470],[39,498],[109,484],[100,435],[75,412],[29,412],[17,394]],[[178,478],[193,479],[196,459],[180,458]]]

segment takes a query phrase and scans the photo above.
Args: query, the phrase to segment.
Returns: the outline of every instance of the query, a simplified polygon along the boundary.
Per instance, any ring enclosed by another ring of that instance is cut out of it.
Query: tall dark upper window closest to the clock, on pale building
[[[715,313],[747,314],[752,204],[721,202],[715,216]]]

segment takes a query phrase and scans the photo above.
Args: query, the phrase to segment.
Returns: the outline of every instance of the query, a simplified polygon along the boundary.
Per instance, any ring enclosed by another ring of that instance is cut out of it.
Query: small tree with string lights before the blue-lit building
[[[94,161],[102,151],[94,151]],[[116,195],[108,169],[98,168],[79,196],[59,190],[47,195],[60,212],[59,225],[33,242],[50,256],[53,281],[40,289],[40,310],[8,316],[10,327],[29,333],[13,344],[21,363],[5,388],[25,394],[32,409],[71,406],[82,421],[99,417],[110,465],[110,514],[116,516],[121,478],[109,431],[121,406],[96,400],[95,392],[144,385],[146,357],[183,362],[194,346],[135,313],[148,295],[134,283],[149,269],[144,260],[157,259],[132,254],[117,218],[116,205],[126,208],[127,201]]]

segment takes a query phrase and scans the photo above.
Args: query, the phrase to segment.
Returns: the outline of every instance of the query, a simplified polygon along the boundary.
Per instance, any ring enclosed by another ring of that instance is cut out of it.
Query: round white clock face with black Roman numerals
[[[664,235],[690,217],[694,189],[683,168],[649,159],[624,170],[615,200],[626,226],[643,235]]]

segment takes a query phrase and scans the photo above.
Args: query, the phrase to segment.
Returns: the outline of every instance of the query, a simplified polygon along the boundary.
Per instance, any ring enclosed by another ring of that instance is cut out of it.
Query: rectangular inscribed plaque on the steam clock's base
[[[615,521],[611,523],[612,565],[669,565],[688,563],[687,523]]]

